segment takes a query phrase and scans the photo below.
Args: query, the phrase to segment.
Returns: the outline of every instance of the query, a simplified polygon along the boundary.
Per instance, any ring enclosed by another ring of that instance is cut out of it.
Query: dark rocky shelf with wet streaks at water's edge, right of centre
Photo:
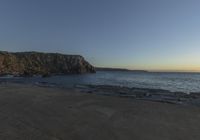
[[[78,86],[77,88],[80,89],[81,92],[90,94],[117,96],[170,104],[200,106],[200,93],[198,92],[187,94],[184,92],[171,92],[163,89],[129,88],[110,85],[85,85]]]

